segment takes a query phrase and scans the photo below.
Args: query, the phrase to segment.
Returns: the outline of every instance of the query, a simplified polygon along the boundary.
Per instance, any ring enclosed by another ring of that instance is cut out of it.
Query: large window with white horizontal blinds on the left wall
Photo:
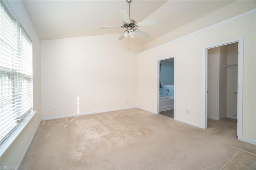
[[[0,6],[0,144],[32,112],[32,41]]]

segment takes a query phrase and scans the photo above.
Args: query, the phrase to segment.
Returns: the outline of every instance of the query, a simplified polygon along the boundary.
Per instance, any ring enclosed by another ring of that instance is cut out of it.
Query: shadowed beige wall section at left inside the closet
[[[220,120],[227,116],[227,46],[208,49],[207,114]]]

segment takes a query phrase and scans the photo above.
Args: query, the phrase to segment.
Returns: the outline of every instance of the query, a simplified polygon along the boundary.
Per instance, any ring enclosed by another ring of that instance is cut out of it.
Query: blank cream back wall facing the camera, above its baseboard
[[[136,53],[120,34],[41,42],[42,118],[136,107]],[[128,100],[128,101],[127,101]],[[57,109],[54,109],[54,106]]]

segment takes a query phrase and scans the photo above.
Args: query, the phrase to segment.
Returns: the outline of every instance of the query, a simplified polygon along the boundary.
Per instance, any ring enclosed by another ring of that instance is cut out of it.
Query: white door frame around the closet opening
[[[238,96],[237,96],[237,134],[238,139],[242,140],[242,109],[243,109],[243,57],[244,57],[244,37],[235,38],[226,42],[216,43],[203,48],[203,128],[207,128],[207,65],[208,49],[238,43]],[[239,121],[238,121],[239,120]]]

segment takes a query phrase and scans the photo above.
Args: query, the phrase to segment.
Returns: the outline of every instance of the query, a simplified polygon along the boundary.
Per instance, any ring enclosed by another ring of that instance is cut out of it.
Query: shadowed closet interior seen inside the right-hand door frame
[[[234,121],[238,117],[238,42],[207,50],[207,118]]]

